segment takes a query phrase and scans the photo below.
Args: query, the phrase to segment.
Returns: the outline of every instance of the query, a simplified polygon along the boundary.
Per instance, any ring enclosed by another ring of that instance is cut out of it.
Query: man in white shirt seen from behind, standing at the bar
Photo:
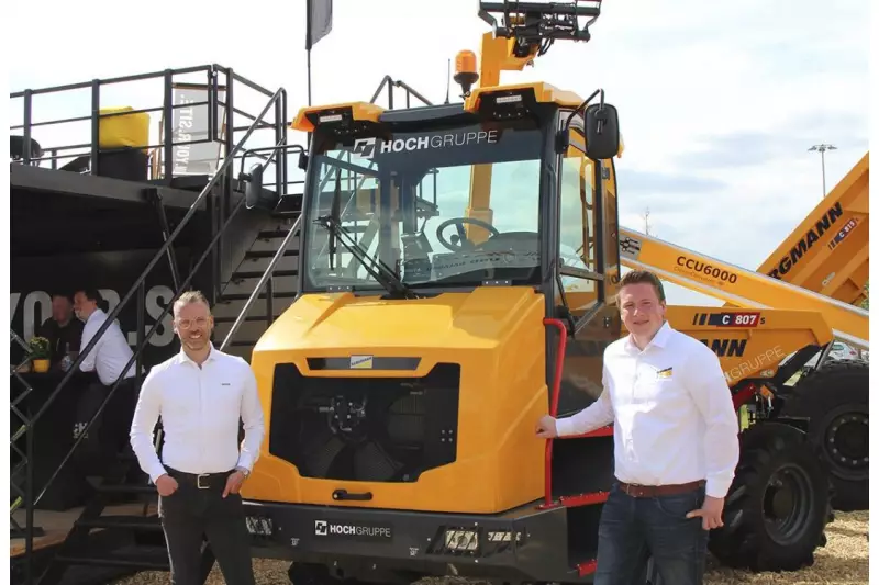
[[[85,323],[80,350],[87,348],[107,320],[107,301],[97,290],[80,289],[74,295],[74,311]],[[82,446],[79,459],[88,461],[91,469],[108,471],[116,468],[119,454],[127,446],[129,428],[137,402],[137,384],[134,363],[125,371],[123,368],[133,355],[119,322],[113,322],[79,365],[84,372],[96,372],[98,380],[89,385],[80,400],[74,428],[75,437],[78,437],[85,424],[94,415],[116,380],[122,378],[113,397],[89,429],[89,437],[82,441],[86,445]]]

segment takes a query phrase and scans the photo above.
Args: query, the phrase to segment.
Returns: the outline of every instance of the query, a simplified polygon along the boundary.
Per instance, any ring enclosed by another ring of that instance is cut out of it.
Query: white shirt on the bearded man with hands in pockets
[[[153,443],[159,416],[165,432],[162,461]],[[245,430],[241,451],[240,418]],[[166,473],[165,465],[185,473],[249,471],[264,432],[249,364],[211,346],[201,368],[181,349],[149,371],[134,412],[131,445],[141,469],[155,482]]]

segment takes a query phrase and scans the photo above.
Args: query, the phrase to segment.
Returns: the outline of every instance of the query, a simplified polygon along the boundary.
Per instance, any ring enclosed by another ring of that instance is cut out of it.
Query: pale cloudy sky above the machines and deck
[[[89,10],[15,2],[11,21],[40,19],[40,32],[11,31],[10,46],[26,46],[27,58],[10,64],[10,89],[218,63],[287,88],[292,116],[307,102],[304,1],[287,2],[296,11],[280,4],[160,0],[122,16],[105,0]],[[333,32],[312,53],[313,102],[369,100],[385,75],[441,102],[447,59],[478,52],[488,30],[476,0],[334,4]],[[753,269],[822,194],[820,158],[808,148],[837,146],[828,189],[868,148],[869,15],[867,0],[609,0],[591,42],[558,42],[502,81],[544,80],[581,95],[604,88],[626,144],[621,222],[643,230],[649,209],[658,237]],[[160,95],[115,99],[145,106]],[[670,296],[719,304],[678,288]]]

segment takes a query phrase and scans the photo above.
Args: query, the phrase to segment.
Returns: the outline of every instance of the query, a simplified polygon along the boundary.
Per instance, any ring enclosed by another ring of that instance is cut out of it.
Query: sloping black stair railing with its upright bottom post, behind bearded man
[[[70,460],[70,458],[73,457],[74,452],[79,447],[80,442],[88,435],[89,429],[91,429],[91,427],[93,426],[94,421],[101,416],[101,414],[103,413],[104,407],[107,406],[107,404],[110,401],[112,401],[113,395],[116,393],[120,383],[124,379],[122,378],[122,375],[120,375],[120,378],[112,384],[112,386],[110,387],[109,392],[107,393],[107,396],[104,397],[103,402],[98,406],[98,408],[96,409],[94,414],[91,416],[89,421],[85,425],[85,427],[81,429],[81,431],[79,432],[78,437],[74,441],[74,445],[67,451],[67,454],[62,459],[60,463],[55,468],[55,471],[52,473],[52,475],[49,476],[48,481],[45,482],[45,484],[42,486],[42,488],[38,491],[38,493],[34,488],[35,486],[33,485],[33,469],[32,469],[33,468],[33,465],[32,465],[32,461],[33,461],[33,436],[34,436],[34,432],[35,432],[36,423],[38,423],[40,419],[45,415],[45,413],[52,407],[52,405],[55,402],[55,400],[57,398],[57,396],[64,391],[64,389],[67,386],[68,382],[75,375],[75,373],[79,369],[79,367],[82,363],[82,361],[94,349],[94,346],[101,339],[101,337],[104,335],[104,333],[108,330],[110,325],[112,325],[115,322],[115,319],[119,316],[119,314],[131,302],[131,300],[135,295],[137,296],[137,303],[138,303],[138,308],[140,308],[138,314],[140,315],[144,314],[144,310],[145,310],[144,303],[145,303],[145,296],[146,296],[145,282],[146,282],[147,275],[151,273],[153,268],[163,258],[166,257],[168,249],[170,249],[170,247],[174,245],[175,240],[182,233],[182,230],[186,228],[186,226],[188,225],[189,221],[196,215],[196,211],[200,207],[202,202],[204,202],[205,199],[212,193],[214,188],[218,185],[219,181],[225,176],[226,171],[229,171],[231,173],[232,164],[234,162],[236,156],[240,153],[242,153],[243,150],[245,150],[244,144],[246,143],[246,140],[256,131],[257,126],[263,122],[263,120],[265,119],[265,116],[269,112],[269,110],[271,108],[276,106],[279,102],[281,102],[281,100],[285,99],[285,95],[286,95],[286,92],[285,92],[283,89],[279,89],[278,91],[276,91],[271,95],[271,98],[268,100],[266,105],[263,108],[263,111],[259,113],[259,115],[257,115],[255,117],[254,122],[251,124],[251,126],[247,127],[243,138],[241,140],[238,140],[235,145],[233,145],[229,149],[230,150],[230,156],[226,157],[223,160],[223,162],[218,168],[215,175],[210,179],[208,184],[201,190],[201,192],[196,198],[196,200],[193,201],[192,205],[189,207],[189,210],[187,211],[185,216],[180,220],[180,222],[177,225],[177,227],[175,228],[175,230],[169,235],[168,238],[166,238],[166,240],[164,241],[162,247],[153,256],[153,259],[149,261],[149,263],[143,270],[141,275],[137,278],[137,280],[134,282],[134,284],[131,286],[131,289],[127,291],[127,293],[124,295],[124,297],[116,304],[115,307],[113,307],[113,310],[110,312],[110,314],[108,315],[108,317],[104,320],[104,323],[101,324],[101,327],[98,329],[98,331],[94,334],[94,336],[89,340],[88,344],[86,344],[86,347],[81,348],[79,355],[77,356],[77,358],[75,360],[73,360],[73,363],[68,368],[68,370],[65,373],[65,375],[62,379],[62,381],[52,391],[52,393],[48,395],[46,401],[43,402],[43,404],[41,405],[40,409],[33,416],[30,417],[30,420],[26,420],[24,423],[24,425],[21,428],[21,430],[13,437],[15,440],[19,440],[22,437],[25,437],[26,448],[25,448],[25,452],[24,452],[24,462],[25,462],[24,464],[27,468],[30,468],[30,469],[25,470],[26,471],[27,481],[25,482],[26,483],[25,488],[22,490],[22,492],[24,492],[24,496],[22,498],[23,499],[23,504],[20,503],[19,506],[18,506],[18,508],[20,508],[22,505],[24,505],[26,507],[26,514],[27,514],[27,520],[29,520],[26,522],[26,526],[24,527],[24,539],[25,539],[25,561],[24,562],[26,564],[26,566],[25,566],[25,583],[29,583],[29,584],[33,583],[33,554],[32,554],[32,551],[33,551],[33,539],[34,539],[33,511],[34,511],[36,505],[40,504],[41,499],[46,494],[47,490],[52,486],[53,482],[58,476],[59,472],[64,469],[64,466]],[[281,138],[281,140],[279,140],[279,142],[280,143],[285,142],[285,138]],[[155,331],[162,325],[162,323],[164,322],[164,319],[168,315],[168,313],[173,310],[174,303],[177,301],[177,299],[180,296],[180,294],[183,291],[187,290],[187,288],[189,286],[190,282],[192,281],[192,278],[196,275],[196,273],[199,271],[201,266],[204,263],[204,260],[208,258],[209,255],[211,255],[213,252],[214,248],[219,245],[224,232],[232,224],[232,220],[234,220],[234,217],[237,215],[237,213],[242,210],[242,207],[245,204],[245,201],[246,201],[245,198],[241,198],[240,201],[234,205],[234,207],[229,212],[229,214],[225,217],[224,223],[222,224],[222,226],[218,230],[215,230],[210,244],[205,247],[205,249],[202,252],[201,257],[198,259],[198,261],[192,267],[191,272],[189,273],[189,275],[180,283],[179,289],[177,291],[175,291],[174,296],[167,303],[167,305],[165,306],[163,312],[156,317],[155,324],[153,325],[153,327],[145,335],[144,335],[145,327],[143,326],[143,323],[140,324],[142,326],[138,327],[136,349],[134,350],[132,357],[129,359],[129,362],[122,369],[123,372],[129,371],[135,362],[140,363],[141,355],[143,353],[144,349],[146,348],[147,344],[149,342],[149,339],[153,337]],[[12,403],[12,408],[13,408],[13,412],[14,412],[15,410],[15,403],[14,402]],[[13,440],[13,443],[15,441]],[[37,495],[34,497],[35,493]]]

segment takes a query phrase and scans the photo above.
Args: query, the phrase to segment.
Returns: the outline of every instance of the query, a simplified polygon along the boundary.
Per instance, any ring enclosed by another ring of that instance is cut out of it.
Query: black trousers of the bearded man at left
[[[173,585],[201,585],[201,544],[207,537],[226,585],[254,585],[251,560],[251,537],[244,517],[241,495],[223,498],[229,474],[214,474],[208,488],[199,488],[194,476],[168,470],[177,480],[178,488],[171,495],[159,496],[158,515],[168,559]]]

